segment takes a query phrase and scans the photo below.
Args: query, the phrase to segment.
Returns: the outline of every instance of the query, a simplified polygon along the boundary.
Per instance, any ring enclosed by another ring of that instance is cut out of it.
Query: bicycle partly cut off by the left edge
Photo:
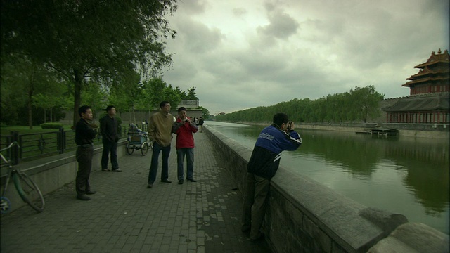
[[[45,200],[44,196],[37,187],[37,184],[25,174],[25,172],[20,171],[18,168],[13,167],[11,160],[6,160],[6,157],[2,154],[5,150],[12,148],[14,145],[17,145],[18,148],[20,146],[16,141],[8,145],[8,147],[0,150],[1,160],[5,164],[8,165],[8,177],[6,178],[6,183],[1,192],[1,203],[0,203],[0,212],[5,214],[11,211],[11,201],[8,200],[6,195],[6,190],[8,190],[8,184],[11,179],[13,179],[15,189],[18,191],[18,194],[22,198],[22,200],[30,205],[37,212],[44,211]],[[4,164],[2,164],[3,166]]]

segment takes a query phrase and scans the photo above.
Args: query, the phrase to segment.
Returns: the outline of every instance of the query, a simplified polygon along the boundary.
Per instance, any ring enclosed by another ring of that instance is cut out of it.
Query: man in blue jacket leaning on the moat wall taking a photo
[[[266,214],[266,197],[270,179],[275,176],[283,150],[296,150],[302,138],[294,131],[294,123],[288,115],[277,113],[273,123],[262,129],[253,148],[247,166],[245,199],[243,205],[242,231],[250,231],[250,240],[264,239],[260,231]]]

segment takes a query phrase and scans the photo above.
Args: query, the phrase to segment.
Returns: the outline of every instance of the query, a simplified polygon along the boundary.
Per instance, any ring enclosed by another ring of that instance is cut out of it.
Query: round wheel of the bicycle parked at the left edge
[[[13,181],[15,188],[24,202],[37,212],[44,211],[44,196],[41,190],[39,190],[39,187],[37,187],[37,184],[27,174],[16,172],[13,174]]]

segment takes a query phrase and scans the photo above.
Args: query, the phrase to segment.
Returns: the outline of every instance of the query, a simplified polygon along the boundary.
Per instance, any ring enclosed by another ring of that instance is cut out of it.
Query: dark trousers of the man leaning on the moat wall
[[[261,236],[262,222],[266,216],[266,198],[269,194],[270,180],[247,173],[242,215],[242,231],[250,230],[250,239]]]

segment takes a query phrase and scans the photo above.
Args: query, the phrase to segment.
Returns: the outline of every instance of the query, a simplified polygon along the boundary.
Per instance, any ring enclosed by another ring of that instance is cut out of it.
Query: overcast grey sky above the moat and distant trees
[[[355,86],[408,96],[414,66],[450,44],[449,0],[181,0],[169,22],[163,79],[212,115]]]

